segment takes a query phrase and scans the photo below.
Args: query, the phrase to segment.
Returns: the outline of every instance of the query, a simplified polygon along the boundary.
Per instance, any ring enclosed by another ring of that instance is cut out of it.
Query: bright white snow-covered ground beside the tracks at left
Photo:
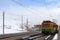
[[[5,34],[22,33],[22,32],[27,32],[27,31],[25,29],[16,29],[16,28],[14,28],[14,29],[5,28],[5,30],[4,30]],[[0,34],[3,34],[3,29],[2,28],[0,28]]]

